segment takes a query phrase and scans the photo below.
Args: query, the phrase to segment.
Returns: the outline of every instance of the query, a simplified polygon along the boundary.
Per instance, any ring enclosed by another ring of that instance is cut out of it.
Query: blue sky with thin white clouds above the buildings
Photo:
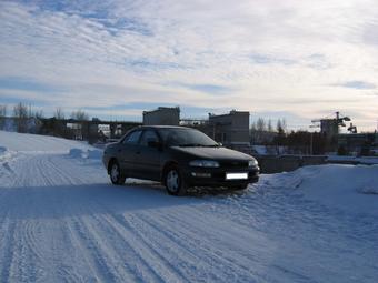
[[[378,120],[375,0],[0,1],[0,104]]]

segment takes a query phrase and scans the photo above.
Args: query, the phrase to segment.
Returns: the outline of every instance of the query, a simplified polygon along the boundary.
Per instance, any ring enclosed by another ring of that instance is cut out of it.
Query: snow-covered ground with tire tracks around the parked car
[[[173,198],[100,155],[0,131],[0,282],[377,282],[377,165]]]

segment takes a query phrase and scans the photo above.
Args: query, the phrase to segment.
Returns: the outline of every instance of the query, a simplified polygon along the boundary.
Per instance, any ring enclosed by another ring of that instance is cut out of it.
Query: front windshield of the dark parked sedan
[[[168,146],[219,146],[216,141],[195,129],[160,129],[159,133]]]

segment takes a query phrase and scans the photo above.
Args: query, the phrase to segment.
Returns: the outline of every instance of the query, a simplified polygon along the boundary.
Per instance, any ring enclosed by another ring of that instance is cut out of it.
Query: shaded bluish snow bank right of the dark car
[[[263,182],[297,189],[305,198],[330,208],[378,216],[378,165],[305,166],[268,176]]]

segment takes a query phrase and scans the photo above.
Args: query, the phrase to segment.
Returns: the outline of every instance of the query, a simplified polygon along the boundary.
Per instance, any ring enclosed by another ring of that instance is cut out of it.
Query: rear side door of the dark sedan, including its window
[[[135,166],[135,160],[137,158],[139,140],[142,131],[136,130],[129,133],[120,144],[118,149],[118,156],[122,172],[127,176],[135,176],[137,174],[137,169]]]

